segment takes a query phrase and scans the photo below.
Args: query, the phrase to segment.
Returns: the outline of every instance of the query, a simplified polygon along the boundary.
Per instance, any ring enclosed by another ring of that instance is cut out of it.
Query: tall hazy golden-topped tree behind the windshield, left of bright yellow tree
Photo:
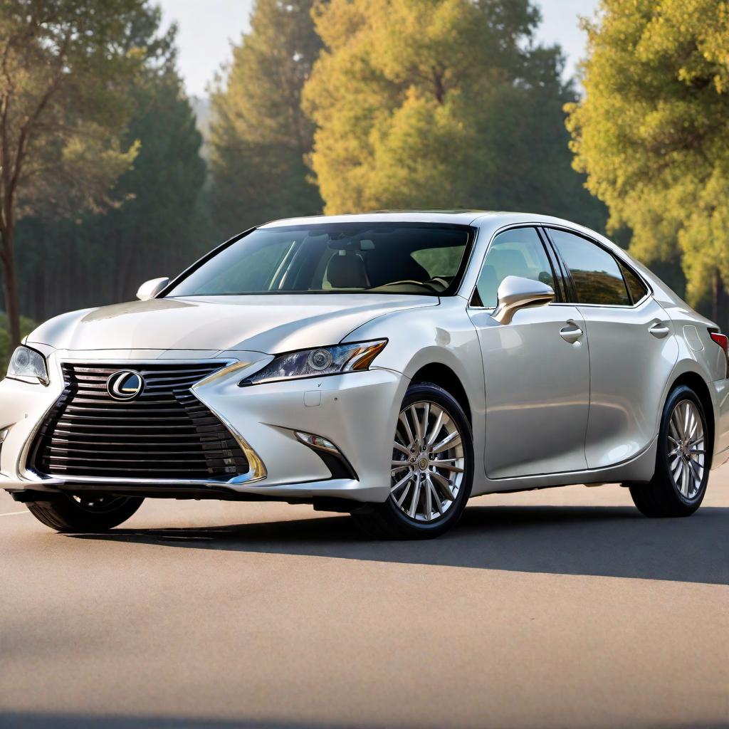
[[[313,126],[301,110],[321,49],[312,1],[257,0],[225,87],[212,95],[210,200],[225,234],[321,211],[304,163]]]

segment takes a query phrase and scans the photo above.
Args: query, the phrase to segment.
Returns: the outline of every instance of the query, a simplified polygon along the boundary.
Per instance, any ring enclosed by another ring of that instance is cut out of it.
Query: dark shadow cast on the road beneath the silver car
[[[472,506],[439,539],[377,542],[347,516],[74,534],[139,545],[729,584],[729,508],[646,519],[633,507]]]

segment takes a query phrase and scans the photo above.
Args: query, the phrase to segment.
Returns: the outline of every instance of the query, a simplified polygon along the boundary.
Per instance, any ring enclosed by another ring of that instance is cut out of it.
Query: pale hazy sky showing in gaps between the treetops
[[[206,86],[222,63],[230,58],[230,43],[237,43],[249,28],[253,0],[157,0],[165,23],[179,25],[179,68],[192,95],[206,94]],[[567,72],[582,56],[585,38],[577,28],[578,15],[592,15],[598,0],[534,0],[542,8],[539,40],[559,43],[568,58]]]

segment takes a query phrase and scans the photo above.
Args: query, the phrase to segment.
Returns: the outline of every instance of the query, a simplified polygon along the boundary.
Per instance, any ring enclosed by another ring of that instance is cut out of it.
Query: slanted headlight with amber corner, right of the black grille
[[[241,386],[367,370],[386,343],[386,339],[381,339],[279,354],[262,370],[243,380]]]

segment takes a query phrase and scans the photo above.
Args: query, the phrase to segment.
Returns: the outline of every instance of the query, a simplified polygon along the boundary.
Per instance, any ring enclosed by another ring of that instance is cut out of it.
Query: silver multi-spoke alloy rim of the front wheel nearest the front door
[[[435,402],[414,402],[397,421],[390,499],[410,519],[435,521],[456,502],[465,463],[453,418]]]

